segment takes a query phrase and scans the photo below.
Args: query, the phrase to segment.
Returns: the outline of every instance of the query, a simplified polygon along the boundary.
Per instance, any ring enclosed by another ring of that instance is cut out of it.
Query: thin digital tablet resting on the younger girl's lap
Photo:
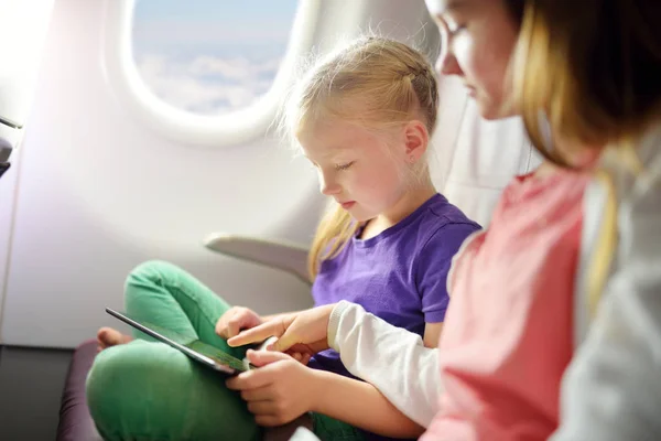
[[[194,361],[224,374],[237,375],[253,367],[247,359],[241,361],[199,340],[191,340],[173,331],[156,326],[153,323],[131,319],[126,313],[115,311],[110,308],[106,308],[106,312],[130,326],[142,331],[147,335],[183,352]]]

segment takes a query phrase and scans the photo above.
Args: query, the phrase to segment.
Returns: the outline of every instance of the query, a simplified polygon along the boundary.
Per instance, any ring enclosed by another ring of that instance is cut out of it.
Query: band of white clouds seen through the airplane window
[[[138,69],[165,103],[204,115],[218,115],[253,103],[270,88],[281,58],[249,60],[201,55],[175,60],[140,56]]]

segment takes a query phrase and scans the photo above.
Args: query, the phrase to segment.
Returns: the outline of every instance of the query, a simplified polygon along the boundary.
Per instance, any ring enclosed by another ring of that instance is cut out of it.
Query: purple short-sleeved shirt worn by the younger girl
[[[425,323],[443,322],[452,258],[478,229],[435,194],[397,225],[367,240],[353,237],[337,257],[323,261],[312,286],[315,304],[348,300],[422,336]],[[315,355],[308,366],[353,377],[333,349]]]

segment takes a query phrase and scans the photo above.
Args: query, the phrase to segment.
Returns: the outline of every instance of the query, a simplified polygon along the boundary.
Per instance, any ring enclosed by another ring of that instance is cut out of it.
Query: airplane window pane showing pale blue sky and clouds
[[[137,0],[133,61],[163,101],[228,114],[271,87],[296,7],[297,0]]]

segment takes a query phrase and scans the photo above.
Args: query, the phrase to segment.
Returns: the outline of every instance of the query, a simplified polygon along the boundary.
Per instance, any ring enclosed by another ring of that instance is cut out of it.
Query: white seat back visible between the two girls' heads
[[[486,227],[505,186],[540,163],[520,118],[486,121],[454,77],[440,82],[438,123],[432,139],[434,184]]]

